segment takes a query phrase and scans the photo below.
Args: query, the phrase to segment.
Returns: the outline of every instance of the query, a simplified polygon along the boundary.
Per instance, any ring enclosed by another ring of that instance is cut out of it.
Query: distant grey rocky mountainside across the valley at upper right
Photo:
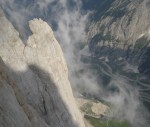
[[[149,7],[149,0],[114,0],[108,9],[97,12],[87,37],[90,50],[112,60],[123,57],[140,63],[150,46]]]

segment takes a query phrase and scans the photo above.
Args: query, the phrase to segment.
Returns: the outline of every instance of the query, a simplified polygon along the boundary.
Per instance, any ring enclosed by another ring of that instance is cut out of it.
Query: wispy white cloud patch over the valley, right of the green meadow
[[[121,75],[113,74],[108,88],[115,88],[113,92],[103,95],[103,99],[113,106],[112,117],[127,120],[134,127],[149,126],[150,115],[140,100],[140,87]]]

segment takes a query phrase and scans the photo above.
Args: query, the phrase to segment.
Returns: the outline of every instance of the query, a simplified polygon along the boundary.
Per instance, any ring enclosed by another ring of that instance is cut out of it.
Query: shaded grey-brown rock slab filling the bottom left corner
[[[0,126],[31,127],[31,123],[17,100],[15,86],[6,73],[6,67],[0,60]]]

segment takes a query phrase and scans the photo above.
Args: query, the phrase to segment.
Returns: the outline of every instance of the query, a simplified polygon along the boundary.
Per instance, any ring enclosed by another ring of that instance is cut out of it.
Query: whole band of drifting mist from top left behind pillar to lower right
[[[111,80],[104,87],[90,65],[81,61],[83,54],[91,55],[85,40],[89,15],[92,13],[82,10],[81,0],[0,0],[0,5],[24,43],[31,34],[29,20],[42,18],[48,22],[64,52],[75,94],[86,92],[99,96],[115,107],[110,114],[112,117],[128,120],[135,127],[148,127],[146,119],[149,116],[139,98],[140,88],[135,87],[126,77],[113,73],[109,73]],[[111,87],[117,91],[110,92],[108,89]]]

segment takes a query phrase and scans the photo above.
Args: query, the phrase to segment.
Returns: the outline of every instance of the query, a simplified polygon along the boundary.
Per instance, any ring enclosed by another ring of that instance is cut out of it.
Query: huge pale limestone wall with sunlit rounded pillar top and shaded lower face
[[[1,11],[0,126],[85,127],[52,29],[41,19],[29,27],[25,45]]]

